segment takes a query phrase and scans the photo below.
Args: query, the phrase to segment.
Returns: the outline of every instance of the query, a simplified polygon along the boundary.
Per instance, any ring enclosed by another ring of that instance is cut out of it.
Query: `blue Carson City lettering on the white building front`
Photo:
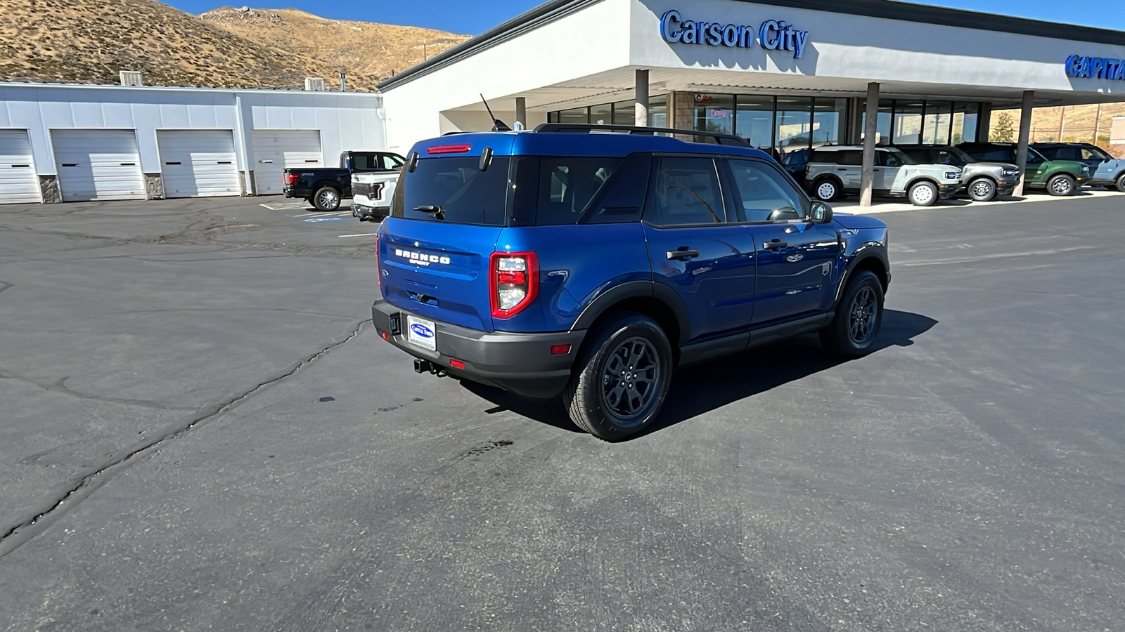
[[[753,48],[755,40],[768,51],[789,51],[801,58],[809,42],[809,31],[793,28],[778,20],[766,20],[755,28],[748,25],[685,20],[673,9],[660,16],[660,37],[678,44],[703,44]]]

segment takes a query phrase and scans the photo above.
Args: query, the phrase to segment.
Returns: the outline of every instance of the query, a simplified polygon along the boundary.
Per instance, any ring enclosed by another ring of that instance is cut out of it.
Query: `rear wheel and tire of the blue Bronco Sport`
[[[652,423],[668,395],[672,370],[664,329],[648,316],[627,312],[583,346],[562,403],[578,427],[615,441]]]

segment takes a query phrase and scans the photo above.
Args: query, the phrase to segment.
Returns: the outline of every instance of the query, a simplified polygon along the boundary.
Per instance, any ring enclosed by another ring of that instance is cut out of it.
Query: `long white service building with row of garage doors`
[[[370,92],[0,83],[0,204],[281,192],[384,150]]]

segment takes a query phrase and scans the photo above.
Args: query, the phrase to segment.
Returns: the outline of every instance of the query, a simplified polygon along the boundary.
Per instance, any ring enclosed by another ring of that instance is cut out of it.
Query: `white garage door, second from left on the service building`
[[[54,129],[51,141],[63,201],[145,199],[132,129]]]

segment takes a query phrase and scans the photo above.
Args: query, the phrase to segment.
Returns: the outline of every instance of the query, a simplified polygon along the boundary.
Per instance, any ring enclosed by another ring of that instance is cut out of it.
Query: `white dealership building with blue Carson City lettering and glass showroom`
[[[483,94],[510,125],[724,132],[783,157],[868,127],[987,141],[998,109],[1125,100],[1122,60],[1125,33],[893,0],[551,0],[379,89],[399,153],[488,129]]]

